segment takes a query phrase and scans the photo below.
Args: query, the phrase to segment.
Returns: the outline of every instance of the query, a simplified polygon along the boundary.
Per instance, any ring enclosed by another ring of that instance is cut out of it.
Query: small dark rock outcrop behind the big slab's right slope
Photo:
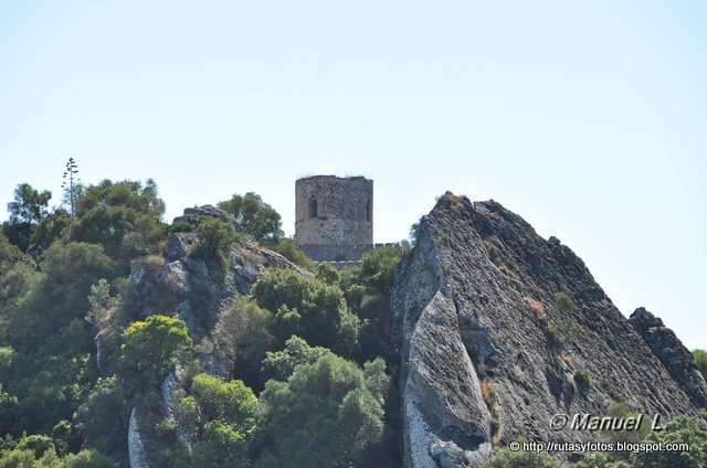
[[[707,384],[697,369],[693,353],[677,339],[663,320],[637,308],[629,319],[633,328],[661,360],[665,369],[689,396],[695,406],[707,407]]]

